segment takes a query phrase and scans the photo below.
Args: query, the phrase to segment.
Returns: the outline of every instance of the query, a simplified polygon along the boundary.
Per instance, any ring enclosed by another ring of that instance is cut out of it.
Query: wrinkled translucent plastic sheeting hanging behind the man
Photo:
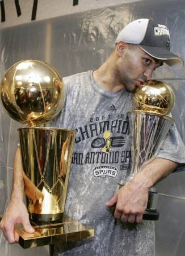
[[[185,59],[185,1],[145,0],[110,8],[92,10],[0,31],[0,77],[22,59],[49,62],[62,76],[96,69],[114,48],[119,31],[137,18],[156,18],[168,24],[171,49]],[[172,70],[164,65],[154,75],[164,79],[176,94],[173,117],[185,141],[185,69]],[[0,106],[0,213],[8,203],[12,186],[13,155],[17,147],[17,128]],[[157,185],[160,195],[156,221],[156,256],[185,255],[185,172],[170,175]],[[23,250],[9,246],[0,233],[0,256],[46,256],[48,247]],[[124,254],[123,254],[124,255]]]

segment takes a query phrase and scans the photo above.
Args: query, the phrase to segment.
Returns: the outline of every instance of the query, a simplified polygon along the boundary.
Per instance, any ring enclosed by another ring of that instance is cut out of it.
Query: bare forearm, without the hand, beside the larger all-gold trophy
[[[13,162],[13,187],[10,200],[22,200],[24,196],[24,181],[22,176],[21,152],[17,148]]]

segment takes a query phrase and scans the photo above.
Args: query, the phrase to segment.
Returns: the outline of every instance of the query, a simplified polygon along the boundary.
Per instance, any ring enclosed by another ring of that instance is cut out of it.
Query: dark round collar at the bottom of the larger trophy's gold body
[[[44,224],[46,222],[62,222],[63,220],[63,212],[55,213],[55,214],[39,214],[29,212],[30,221],[34,221],[34,223]]]

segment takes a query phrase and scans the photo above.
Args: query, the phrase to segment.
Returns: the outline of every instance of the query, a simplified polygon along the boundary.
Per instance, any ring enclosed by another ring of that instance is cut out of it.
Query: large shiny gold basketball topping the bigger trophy
[[[63,79],[46,62],[23,60],[6,71],[0,84],[0,98],[13,119],[28,126],[39,126],[62,109]]]

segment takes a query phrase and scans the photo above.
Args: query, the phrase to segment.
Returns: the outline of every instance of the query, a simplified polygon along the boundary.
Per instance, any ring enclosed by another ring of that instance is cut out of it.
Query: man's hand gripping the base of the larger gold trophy
[[[23,224],[26,232],[34,232],[33,227],[29,223],[29,214],[23,201],[10,201],[3,219],[0,222],[0,228],[3,230],[8,243],[18,242],[19,235],[14,231],[14,224],[20,222]]]

